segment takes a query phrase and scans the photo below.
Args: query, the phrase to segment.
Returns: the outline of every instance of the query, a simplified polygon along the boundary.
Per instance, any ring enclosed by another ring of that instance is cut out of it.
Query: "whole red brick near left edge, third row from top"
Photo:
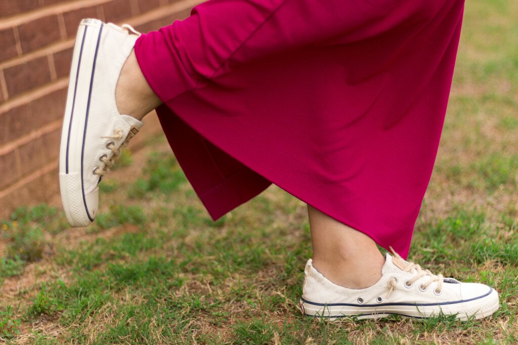
[[[9,98],[48,83],[51,78],[47,56],[7,68],[4,77]]]

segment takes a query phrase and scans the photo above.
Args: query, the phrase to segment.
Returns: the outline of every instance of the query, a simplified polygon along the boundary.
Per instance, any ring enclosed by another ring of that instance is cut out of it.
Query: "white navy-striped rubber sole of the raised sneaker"
[[[86,227],[97,209],[88,208],[87,198],[98,198],[98,190],[85,195],[83,187],[84,137],[88,127],[88,112],[93,84],[93,70],[103,23],[99,20],[81,21],[72,58],[60,146],[60,191],[63,208],[70,226]]]

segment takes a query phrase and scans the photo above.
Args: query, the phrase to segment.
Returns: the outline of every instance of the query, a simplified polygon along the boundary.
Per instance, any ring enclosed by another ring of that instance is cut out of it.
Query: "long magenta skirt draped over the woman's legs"
[[[216,220],[271,183],[406,258],[464,0],[209,0],[135,52]]]

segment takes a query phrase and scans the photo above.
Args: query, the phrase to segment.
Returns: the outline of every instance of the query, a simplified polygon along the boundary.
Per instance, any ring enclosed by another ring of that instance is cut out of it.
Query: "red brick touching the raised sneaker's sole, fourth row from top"
[[[63,117],[66,89],[55,91],[31,102],[34,128],[40,128]]]

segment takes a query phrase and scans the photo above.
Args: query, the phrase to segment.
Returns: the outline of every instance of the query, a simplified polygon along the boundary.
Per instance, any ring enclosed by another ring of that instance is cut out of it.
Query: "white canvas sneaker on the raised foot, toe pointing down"
[[[97,215],[102,176],[143,123],[121,115],[115,88],[139,34],[96,19],[79,25],[61,134],[60,190],[73,227],[88,226]]]

